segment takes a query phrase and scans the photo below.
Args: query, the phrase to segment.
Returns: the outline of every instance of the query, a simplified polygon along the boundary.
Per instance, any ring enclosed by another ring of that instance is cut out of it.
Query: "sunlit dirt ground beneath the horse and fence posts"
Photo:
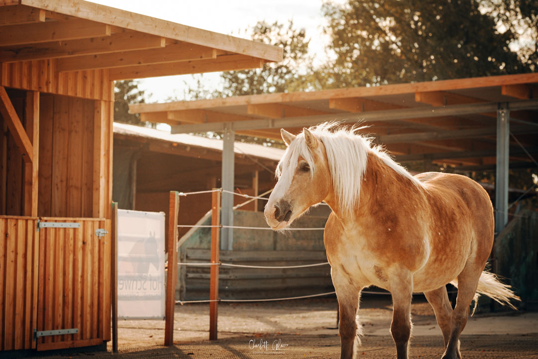
[[[164,321],[119,321],[119,353],[56,353],[49,358],[338,358],[336,299],[221,304],[218,340],[208,341],[209,306],[176,305],[174,346],[165,348]],[[440,358],[441,330],[424,299],[412,305],[411,358]],[[388,298],[365,298],[358,358],[393,358]],[[462,335],[464,358],[538,358],[538,313],[477,313]],[[271,356],[269,356],[271,357]]]

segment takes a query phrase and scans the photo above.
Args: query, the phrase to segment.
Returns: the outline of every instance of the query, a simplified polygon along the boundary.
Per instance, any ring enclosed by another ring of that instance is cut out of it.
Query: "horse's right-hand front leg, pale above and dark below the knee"
[[[411,336],[411,299],[413,296],[413,276],[407,270],[398,270],[390,276],[392,294],[391,334],[398,359],[407,359]]]

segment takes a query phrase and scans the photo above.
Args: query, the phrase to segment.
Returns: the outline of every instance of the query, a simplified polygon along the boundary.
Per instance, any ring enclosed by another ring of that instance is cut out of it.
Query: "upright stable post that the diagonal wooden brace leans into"
[[[32,143],[32,162],[24,164],[24,215],[37,217],[39,170],[39,92],[26,93],[26,133]]]

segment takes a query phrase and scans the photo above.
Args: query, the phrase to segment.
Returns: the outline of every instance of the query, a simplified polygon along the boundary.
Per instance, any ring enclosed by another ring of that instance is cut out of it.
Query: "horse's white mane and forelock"
[[[408,178],[416,186],[422,187],[421,182],[396,163],[383,147],[375,145],[372,138],[357,133],[363,128],[359,126],[346,128],[339,126],[337,122],[325,122],[309,128],[309,131],[325,146],[338,205],[345,212],[351,212],[359,203],[360,184],[366,171],[369,153],[376,154],[395,172]],[[288,182],[285,186],[291,185],[299,157],[308,162],[313,173],[314,158],[302,132],[289,145],[277,166],[277,178]]]

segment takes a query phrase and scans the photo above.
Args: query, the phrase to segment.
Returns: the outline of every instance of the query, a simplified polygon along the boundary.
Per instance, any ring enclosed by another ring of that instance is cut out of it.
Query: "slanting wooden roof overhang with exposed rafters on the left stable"
[[[81,0],[0,0],[0,81],[36,60],[126,80],[263,67],[282,49]]]

